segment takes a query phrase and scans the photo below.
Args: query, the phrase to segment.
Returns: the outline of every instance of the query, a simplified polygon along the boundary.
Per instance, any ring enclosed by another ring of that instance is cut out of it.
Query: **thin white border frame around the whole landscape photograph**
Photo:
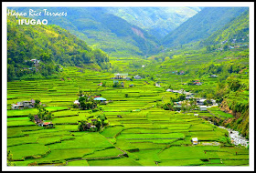
[[[6,8],[7,6],[212,6],[250,7],[250,166],[249,167],[7,167],[6,166]],[[252,171],[254,170],[254,2],[2,2],[2,170],[5,171]]]

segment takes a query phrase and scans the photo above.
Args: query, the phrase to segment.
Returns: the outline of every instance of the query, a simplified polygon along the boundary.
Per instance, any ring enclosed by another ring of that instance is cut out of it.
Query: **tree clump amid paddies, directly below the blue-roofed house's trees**
[[[107,117],[104,114],[89,117],[86,120],[81,120],[78,127],[79,131],[100,131],[102,127],[109,124]]]

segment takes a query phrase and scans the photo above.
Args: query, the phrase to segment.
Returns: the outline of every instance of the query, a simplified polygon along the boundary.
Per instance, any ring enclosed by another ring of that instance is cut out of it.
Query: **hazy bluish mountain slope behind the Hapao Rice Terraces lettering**
[[[29,8],[12,8],[28,12]],[[48,24],[59,25],[71,34],[79,36],[89,45],[99,47],[110,55],[153,54],[158,50],[158,41],[142,28],[128,23],[123,18],[106,13],[101,7],[40,7],[33,10],[43,12],[66,12],[67,16],[37,16],[48,19]]]

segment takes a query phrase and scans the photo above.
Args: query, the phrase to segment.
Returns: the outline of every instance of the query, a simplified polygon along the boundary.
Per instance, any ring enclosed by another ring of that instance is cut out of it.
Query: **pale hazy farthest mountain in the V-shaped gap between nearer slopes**
[[[158,38],[196,15],[202,7],[104,7],[105,12],[122,17]]]

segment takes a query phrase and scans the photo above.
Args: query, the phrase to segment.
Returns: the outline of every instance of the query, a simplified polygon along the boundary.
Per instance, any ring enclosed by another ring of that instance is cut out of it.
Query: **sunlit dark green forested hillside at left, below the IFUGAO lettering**
[[[7,18],[8,80],[51,76],[59,71],[58,64],[108,68],[108,61],[103,51],[92,49],[58,25],[18,25],[15,16]]]

